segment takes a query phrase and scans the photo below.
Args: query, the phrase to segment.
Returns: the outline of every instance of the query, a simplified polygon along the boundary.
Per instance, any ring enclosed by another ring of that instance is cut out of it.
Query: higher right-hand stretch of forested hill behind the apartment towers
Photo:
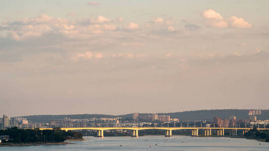
[[[198,110],[198,111],[185,111],[175,113],[158,113],[158,115],[170,115],[171,118],[179,118],[186,120],[214,120],[215,116],[222,119],[229,119],[231,115],[236,116],[237,119],[249,119],[249,110],[238,109],[224,109],[224,110]],[[261,110],[261,115],[257,115],[257,120],[269,119],[269,110]]]

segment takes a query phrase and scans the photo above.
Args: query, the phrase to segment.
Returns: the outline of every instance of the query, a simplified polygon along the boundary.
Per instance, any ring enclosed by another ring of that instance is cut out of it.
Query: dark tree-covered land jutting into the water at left
[[[60,128],[40,130],[13,127],[0,130],[0,146],[69,144],[66,140],[83,140],[82,136],[80,132]]]

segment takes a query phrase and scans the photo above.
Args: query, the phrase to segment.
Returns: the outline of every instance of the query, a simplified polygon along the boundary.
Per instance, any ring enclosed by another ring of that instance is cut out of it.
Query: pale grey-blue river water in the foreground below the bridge
[[[190,136],[173,136],[171,138],[165,136],[84,138],[88,140],[72,141],[75,144],[10,146],[0,147],[0,150],[269,150],[268,142],[243,138]]]

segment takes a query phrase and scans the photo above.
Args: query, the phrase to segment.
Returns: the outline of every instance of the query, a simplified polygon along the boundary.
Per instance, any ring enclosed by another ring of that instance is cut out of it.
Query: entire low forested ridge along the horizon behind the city
[[[171,118],[179,118],[181,120],[214,120],[215,116],[222,119],[229,119],[231,115],[237,117],[237,119],[249,119],[249,110],[237,110],[237,109],[224,109],[224,110],[198,110],[198,111],[184,111],[184,112],[174,112],[174,113],[158,113],[158,115],[170,115]],[[132,119],[133,114],[126,115],[103,115],[103,114],[75,114],[75,115],[31,115],[23,116],[32,122],[50,122],[53,120],[60,120],[64,118],[71,119],[90,119],[96,118],[111,118],[111,117],[122,117]],[[261,110],[261,115],[257,116],[258,120],[269,119],[269,110]]]

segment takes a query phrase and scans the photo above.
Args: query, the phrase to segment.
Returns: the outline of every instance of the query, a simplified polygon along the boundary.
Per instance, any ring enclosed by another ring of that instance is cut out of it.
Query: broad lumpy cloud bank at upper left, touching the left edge
[[[0,29],[7,32],[7,37],[15,40],[25,40],[32,37],[41,37],[44,34],[74,35],[78,33],[75,25],[66,19],[54,18],[41,14],[37,17],[25,18],[19,21],[7,22]]]

